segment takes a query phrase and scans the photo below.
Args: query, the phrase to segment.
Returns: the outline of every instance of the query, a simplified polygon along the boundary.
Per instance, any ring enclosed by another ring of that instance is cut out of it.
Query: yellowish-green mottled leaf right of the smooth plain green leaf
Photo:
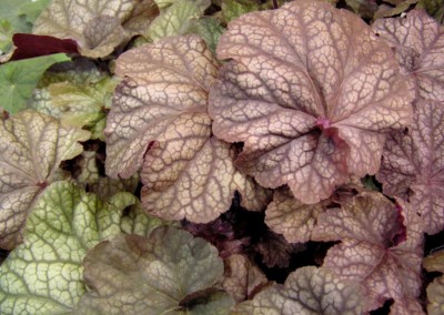
[[[32,92],[30,106],[60,119],[63,125],[85,128],[103,140],[103,129],[117,81],[84,60],[46,73]]]

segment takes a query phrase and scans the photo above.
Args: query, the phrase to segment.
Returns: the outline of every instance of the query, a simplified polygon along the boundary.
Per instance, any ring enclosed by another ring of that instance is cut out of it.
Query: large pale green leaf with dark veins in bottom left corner
[[[72,311],[87,292],[82,261],[88,250],[120,234],[122,211],[135,202],[119,193],[104,203],[71,183],[51,184],[29,215],[24,243],[0,267],[0,313]]]

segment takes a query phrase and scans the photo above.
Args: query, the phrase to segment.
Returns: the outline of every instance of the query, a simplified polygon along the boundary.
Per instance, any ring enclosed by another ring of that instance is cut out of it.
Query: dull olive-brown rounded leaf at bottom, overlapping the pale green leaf
[[[218,250],[185,231],[159,227],[149,238],[122,235],[87,255],[91,292],[74,314],[228,314],[234,302],[214,286],[222,275]],[[194,309],[206,303],[210,313]]]

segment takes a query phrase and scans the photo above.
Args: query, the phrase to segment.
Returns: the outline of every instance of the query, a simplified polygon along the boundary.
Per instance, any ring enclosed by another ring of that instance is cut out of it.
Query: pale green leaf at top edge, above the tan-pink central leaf
[[[164,37],[188,33],[191,20],[202,17],[209,6],[209,0],[176,0],[161,10],[159,17],[151,23],[147,37],[157,41]]]

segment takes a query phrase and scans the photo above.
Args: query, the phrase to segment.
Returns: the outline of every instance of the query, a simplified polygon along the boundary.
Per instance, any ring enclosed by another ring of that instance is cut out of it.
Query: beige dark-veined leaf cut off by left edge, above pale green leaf
[[[13,248],[38,195],[57,179],[61,161],[83,151],[88,131],[63,128],[34,111],[0,120],[0,246]]]

